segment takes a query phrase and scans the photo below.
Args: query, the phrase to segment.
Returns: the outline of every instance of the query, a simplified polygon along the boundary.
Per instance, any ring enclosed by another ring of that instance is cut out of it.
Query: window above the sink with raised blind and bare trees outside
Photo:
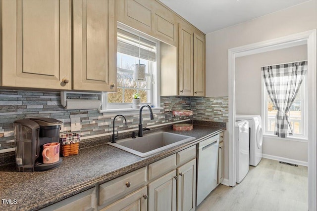
[[[131,109],[134,93],[142,104],[159,107],[159,42],[118,23],[117,92],[107,93],[107,109]],[[135,64],[145,65],[145,81],[134,81]]]

